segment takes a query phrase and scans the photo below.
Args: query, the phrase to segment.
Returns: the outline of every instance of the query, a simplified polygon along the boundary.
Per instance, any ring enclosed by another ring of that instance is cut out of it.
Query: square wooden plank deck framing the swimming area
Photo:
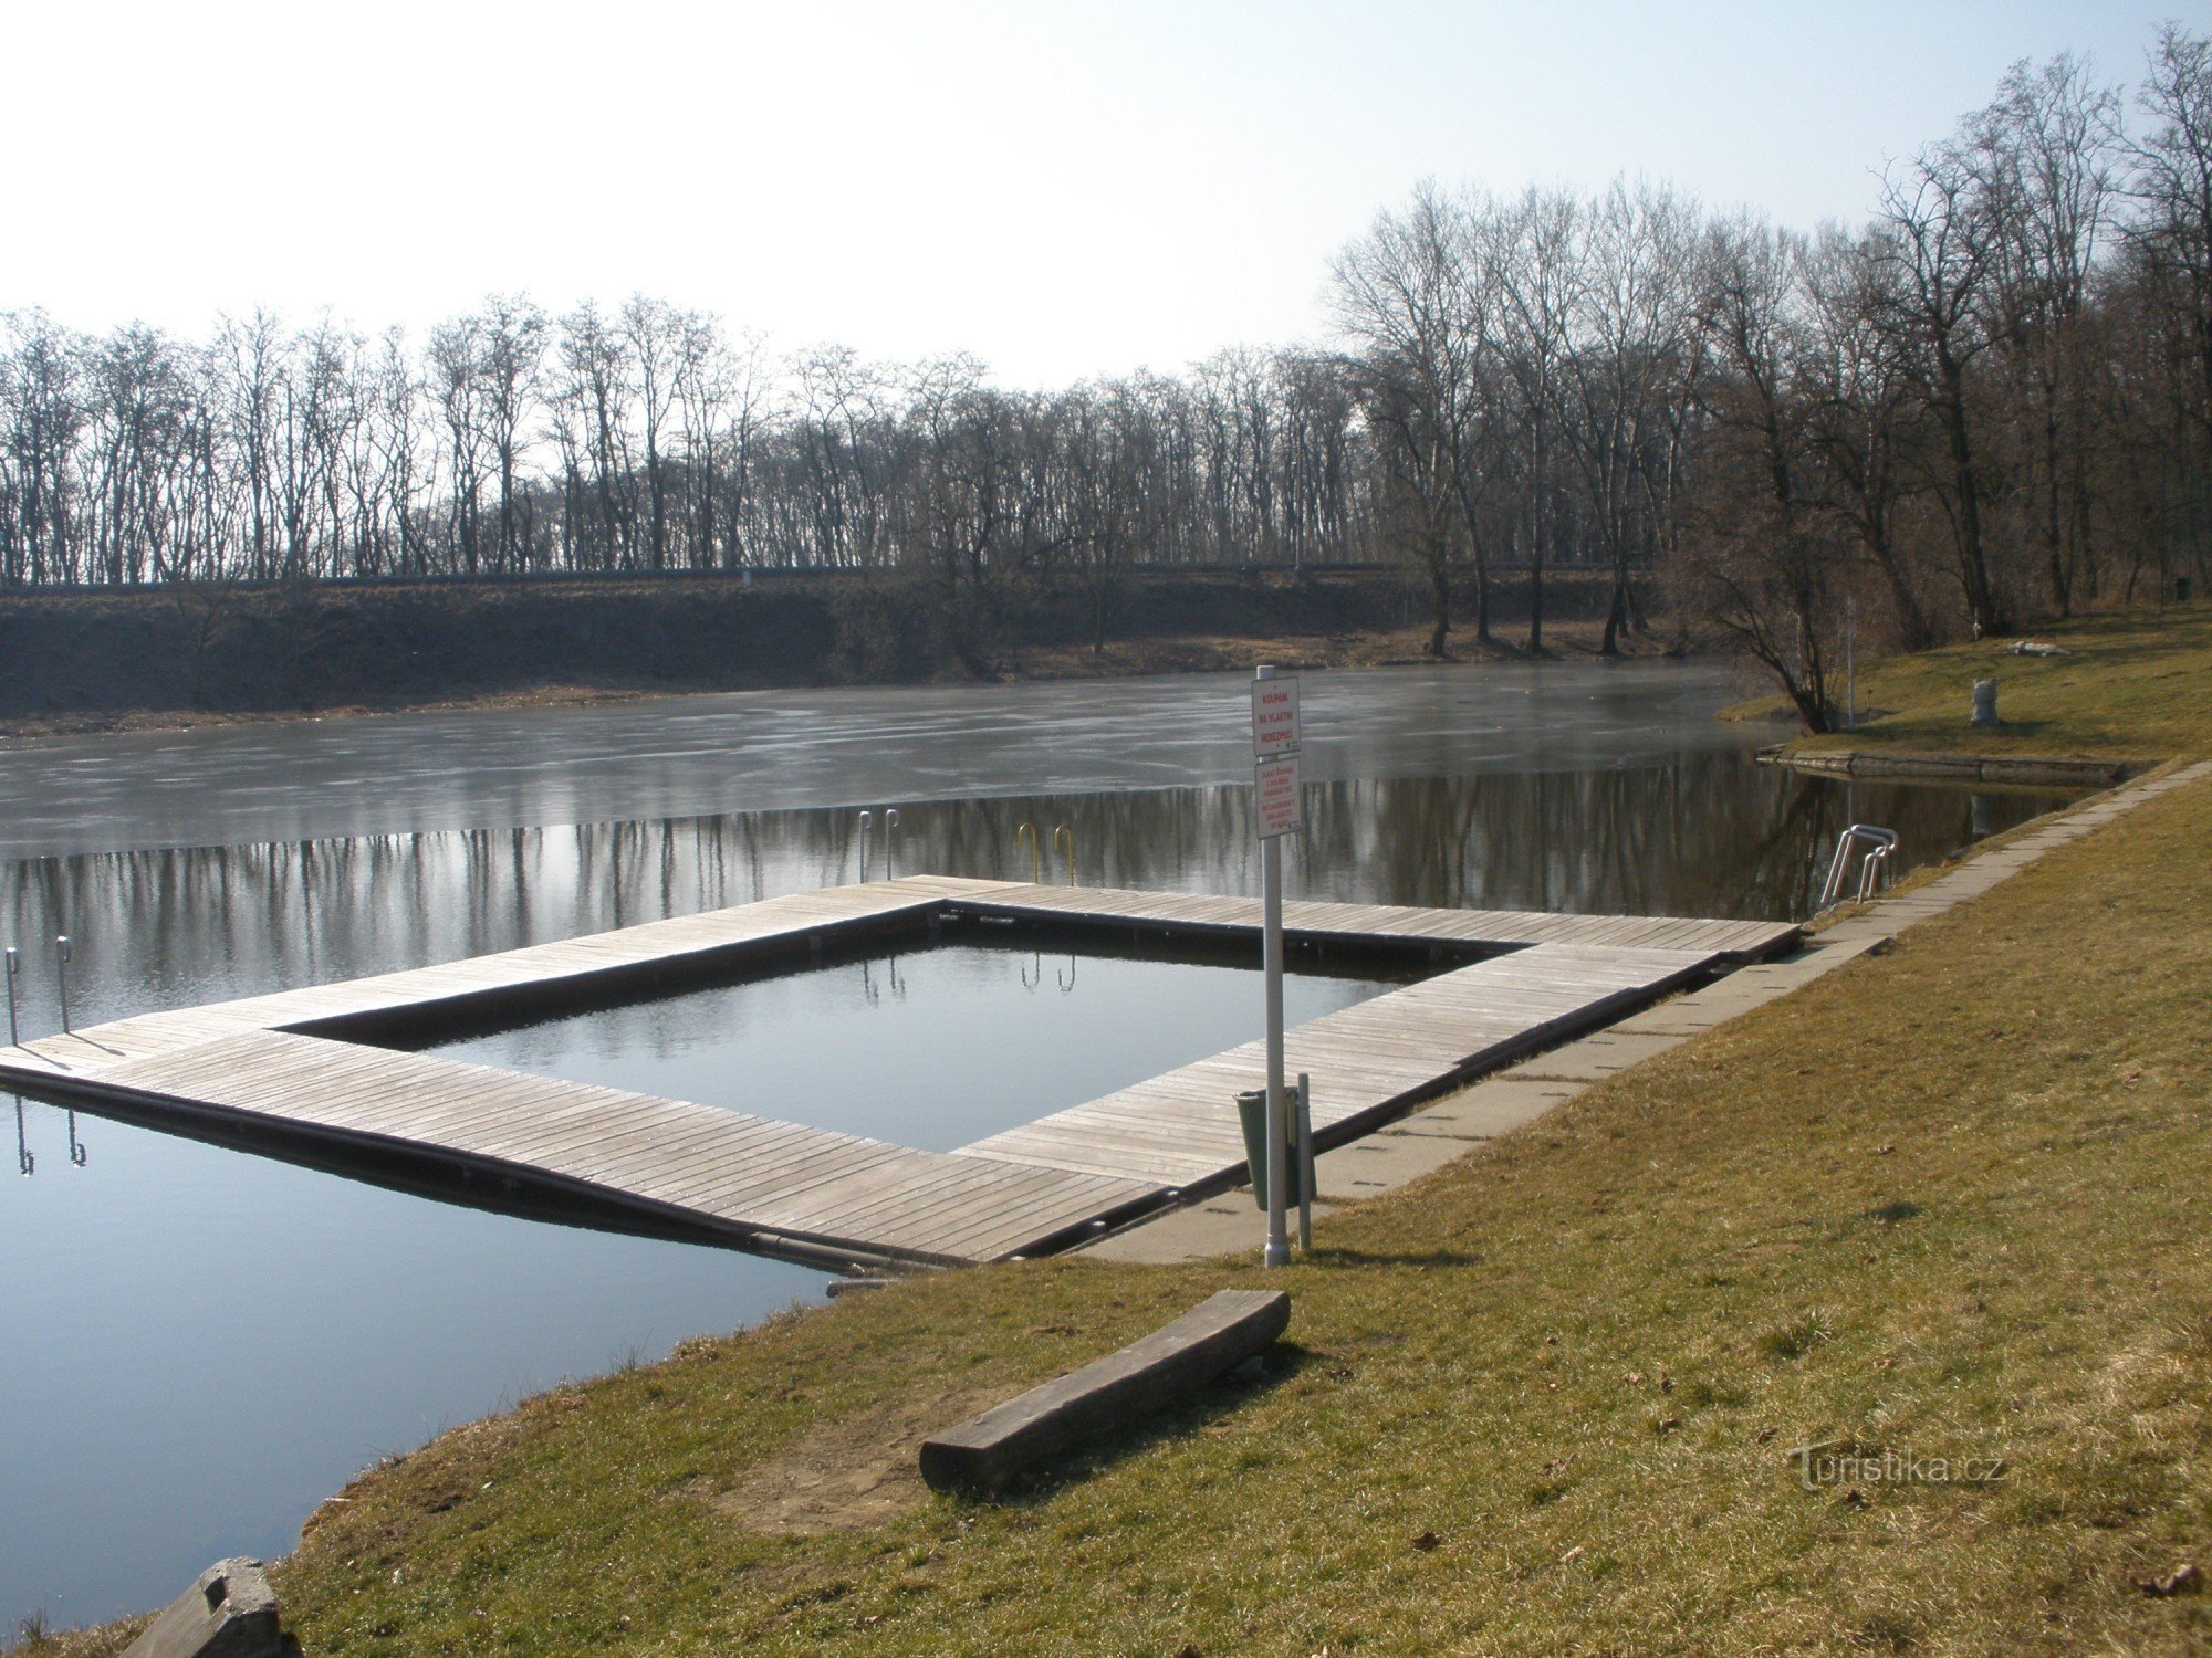
[[[918,1152],[341,1039],[409,1017],[617,997],[832,940],[914,937],[947,913],[1168,937],[1259,926],[1259,904],[1243,898],[918,875],[117,1019],[0,1050],[0,1081],[188,1132],[460,1165],[805,1258],[1000,1260],[1243,1176],[1237,1094],[1261,1085],[1259,1041],[958,1152]],[[1290,1070],[1312,1072],[1323,1145],[1798,935],[1752,922],[1365,904],[1287,904],[1285,924],[1316,942],[1498,951],[1290,1032]]]

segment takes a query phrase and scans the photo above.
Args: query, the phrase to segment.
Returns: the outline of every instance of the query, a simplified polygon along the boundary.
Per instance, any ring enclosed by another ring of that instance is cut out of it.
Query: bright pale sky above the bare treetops
[[[1006,382],[1323,332],[1433,175],[1809,225],[2017,57],[2132,82],[2205,0],[0,0],[0,307],[77,327],[644,290]]]

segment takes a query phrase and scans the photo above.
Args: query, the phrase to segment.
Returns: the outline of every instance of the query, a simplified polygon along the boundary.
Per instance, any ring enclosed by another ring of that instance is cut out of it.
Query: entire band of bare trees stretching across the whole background
[[[0,588],[896,570],[945,615],[1040,581],[1093,634],[1135,566],[1402,562],[1431,648],[1542,648],[1546,570],[1663,581],[1823,730],[1867,646],[2203,584],[2212,42],[2132,93],[2020,64],[1801,234],[1661,186],[1422,186],[1334,267],[1332,349],[1060,391],[770,358],[637,296],[493,296],[425,340],[226,318],[0,329]]]

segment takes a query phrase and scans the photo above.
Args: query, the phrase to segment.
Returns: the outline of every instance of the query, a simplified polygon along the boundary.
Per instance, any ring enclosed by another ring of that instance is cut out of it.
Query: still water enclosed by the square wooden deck
[[[1161,959],[971,922],[896,953],[407,1046],[951,1152],[1250,1041],[1261,973],[1256,946],[1245,955]],[[1292,957],[1294,1026],[1422,977]]]

